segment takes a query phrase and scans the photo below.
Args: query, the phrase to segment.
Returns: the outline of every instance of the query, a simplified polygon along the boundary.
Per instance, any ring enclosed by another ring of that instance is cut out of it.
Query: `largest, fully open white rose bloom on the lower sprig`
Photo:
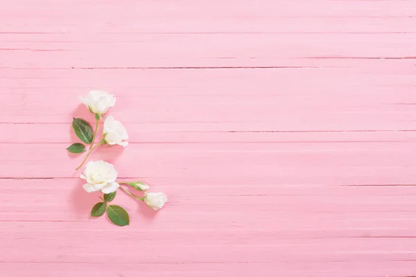
[[[103,193],[114,193],[120,186],[116,183],[116,170],[111,163],[105,161],[90,161],[87,163],[81,178],[87,180],[87,184],[83,185],[87,193],[98,190]]]

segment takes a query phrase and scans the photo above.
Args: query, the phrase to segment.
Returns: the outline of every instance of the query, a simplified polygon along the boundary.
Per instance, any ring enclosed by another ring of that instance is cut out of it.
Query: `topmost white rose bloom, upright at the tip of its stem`
[[[94,114],[105,114],[110,107],[116,103],[116,96],[107,91],[89,91],[89,94],[82,98],[81,102]]]

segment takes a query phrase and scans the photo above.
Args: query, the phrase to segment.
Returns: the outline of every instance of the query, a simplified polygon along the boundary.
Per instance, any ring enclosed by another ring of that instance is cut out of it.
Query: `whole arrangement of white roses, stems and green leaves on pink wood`
[[[80,97],[80,100],[88,107],[89,111],[95,115],[96,124],[93,132],[91,125],[83,118],[73,118],[72,120],[72,128],[76,136],[78,136],[83,143],[89,145],[85,159],[76,170],[83,167],[89,154],[101,145],[121,145],[123,147],[128,145],[128,134],[125,127],[120,121],[115,120],[113,116],[107,116],[105,118],[103,125],[103,139],[94,145],[100,120],[103,120],[104,114],[110,107],[115,105],[115,96],[106,91],[90,91],[85,98]],[[73,143],[67,150],[76,154],[86,152],[87,148],[83,143]],[[80,175],[81,179],[84,179],[87,182],[83,185],[84,190],[87,193],[98,191],[103,193],[103,195],[99,196],[102,201],[95,204],[92,208],[91,215],[93,217],[100,217],[107,212],[107,216],[112,223],[118,226],[130,224],[130,216],[127,211],[121,206],[110,204],[114,197],[116,197],[118,189],[123,190],[134,199],[143,201],[155,211],[162,208],[168,200],[164,193],[148,193],[147,190],[149,186],[141,181],[117,182],[117,175],[118,172],[116,172],[114,166],[106,161],[89,161],[87,166],[85,166],[83,174]],[[130,193],[128,189],[124,188],[124,186],[144,192],[144,196],[139,197],[134,195]]]

